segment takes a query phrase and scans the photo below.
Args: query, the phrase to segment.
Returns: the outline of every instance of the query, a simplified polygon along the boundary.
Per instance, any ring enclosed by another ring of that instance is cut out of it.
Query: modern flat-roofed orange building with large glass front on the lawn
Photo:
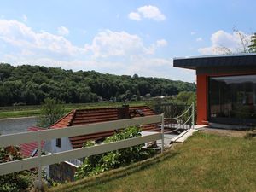
[[[256,125],[256,54],[175,58],[196,71],[197,124]]]

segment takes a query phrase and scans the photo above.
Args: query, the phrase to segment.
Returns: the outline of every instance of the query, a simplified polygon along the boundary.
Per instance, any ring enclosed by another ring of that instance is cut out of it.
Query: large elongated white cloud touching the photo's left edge
[[[34,55],[67,58],[83,54],[85,49],[74,46],[66,38],[49,32],[34,32],[17,20],[0,20],[0,41],[12,46],[19,54],[32,52]]]

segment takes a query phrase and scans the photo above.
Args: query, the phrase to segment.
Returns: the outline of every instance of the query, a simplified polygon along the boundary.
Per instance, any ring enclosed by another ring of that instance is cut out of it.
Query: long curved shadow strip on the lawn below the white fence
[[[179,153],[167,150],[164,154],[158,154],[148,160],[139,161],[130,166],[120,167],[109,172],[103,172],[102,174],[99,174],[94,177],[85,177],[84,179],[81,179],[73,183],[62,184],[59,187],[49,189],[49,191],[73,192],[79,189],[84,189],[84,187],[92,187],[99,183],[111,182],[114,179],[126,177],[136,172],[141,172],[144,169],[149,168],[150,166],[154,166],[163,160],[173,158],[177,154]]]

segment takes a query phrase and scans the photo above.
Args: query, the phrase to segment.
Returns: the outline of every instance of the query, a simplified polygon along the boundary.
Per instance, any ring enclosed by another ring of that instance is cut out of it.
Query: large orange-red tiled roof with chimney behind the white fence
[[[137,112],[137,113],[134,113]],[[141,113],[141,115],[139,114]],[[58,120],[52,129],[64,128],[73,125],[86,125],[92,123],[99,123],[104,121],[129,119],[133,117],[155,115],[154,110],[147,106],[139,107],[121,107],[121,108],[96,108],[96,109],[75,109],[66,116]],[[159,131],[156,125],[143,125],[143,131]],[[103,137],[109,137],[114,134],[114,131],[97,132],[77,137],[69,137],[73,148],[81,148],[83,143],[90,140],[97,140]]]

